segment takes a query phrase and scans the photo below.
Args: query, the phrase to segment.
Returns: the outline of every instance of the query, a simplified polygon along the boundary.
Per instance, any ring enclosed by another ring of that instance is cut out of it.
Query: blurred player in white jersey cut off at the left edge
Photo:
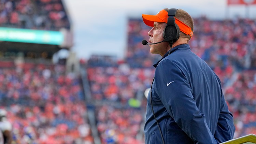
[[[12,124],[6,119],[7,112],[0,109],[0,130],[3,133],[4,144],[12,143]]]

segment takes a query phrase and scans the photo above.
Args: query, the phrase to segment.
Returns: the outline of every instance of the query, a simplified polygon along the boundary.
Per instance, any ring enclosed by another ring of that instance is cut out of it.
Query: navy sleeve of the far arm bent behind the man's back
[[[223,143],[232,140],[234,136],[235,126],[233,123],[233,115],[229,112],[227,103],[222,93],[221,112],[219,114],[217,129],[214,137],[217,143]]]

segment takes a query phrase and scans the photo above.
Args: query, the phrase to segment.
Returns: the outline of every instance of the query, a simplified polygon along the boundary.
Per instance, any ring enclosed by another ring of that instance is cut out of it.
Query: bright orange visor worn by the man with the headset
[[[166,10],[161,10],[156,15],[146,15],[146,14],[143,14],[142,15],[142,19],[143,19],[144,23],[147,26],[153,27],[154,26],[154,22],[165,22],[165,23],[167,23],[168,12]],[[187,26],[186,24],[184,24],[182,21],[180,21],[177,18],[175,18],[175,23],[180,27],[180,30],[183,33],[188,34],[190,37],[193,36],[193,31],[191,30],[191,28],[189,26]]]

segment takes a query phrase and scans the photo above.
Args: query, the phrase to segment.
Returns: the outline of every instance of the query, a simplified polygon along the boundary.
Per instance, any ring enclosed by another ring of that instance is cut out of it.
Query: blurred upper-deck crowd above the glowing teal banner
[[[0,26],[53,31],[70,29],[61,0],[1,0]]]

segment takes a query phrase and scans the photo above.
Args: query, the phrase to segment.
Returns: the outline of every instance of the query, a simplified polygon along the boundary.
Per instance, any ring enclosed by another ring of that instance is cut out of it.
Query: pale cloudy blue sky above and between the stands
[[[73,29],[71,51],[80,59],[91,55],[124,58],[127,20],[157,14],[164,8],[183,9],[192,17],[210,19],[236,16],[256,18],[256,5],[227,6],[226,0],[63,0]]]

